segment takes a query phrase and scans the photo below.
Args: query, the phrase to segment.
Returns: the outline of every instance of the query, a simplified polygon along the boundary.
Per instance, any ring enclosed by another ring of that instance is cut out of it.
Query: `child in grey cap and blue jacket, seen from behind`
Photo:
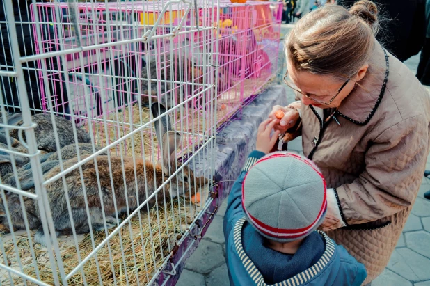
[[[326,214],[317,166],[272,149],[265,120],[228,198],[223,228],[231,285],[361,285],[367,273],[342,246],[316,231]]]

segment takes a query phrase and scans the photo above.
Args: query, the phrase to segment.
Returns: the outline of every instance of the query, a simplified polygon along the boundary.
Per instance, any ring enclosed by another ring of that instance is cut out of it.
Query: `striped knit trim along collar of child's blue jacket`
[[[242,244],[242,237],[241,232],[242,228],[244,226],[244,223],[246,221],[246,218],[239,219],[237,221],[236,225],[234,225],[233,230],[233,237],[234,237],[234,247],[236,248],[237,254],[239,255],[239,258],[244,265],[244,268],[246,271],[248,271],[248,274],[251,279],[253,279],[255,285],[258,286],[268,286],[264,282],[264,278],[260,271],[255,267],[255,264],[250,260],[248,255],[246,255],[246,252],[244,251],[244,246]],[[333,240],[330,239],[324,232],[320,232],[317,230],[320,235],[324,238],[326,241],[326,249],[317,261],[312,267],[309,269],[306,269],[305,271],[298,273],[296,276],[293,276],[292,278],[289,278],[285,281],[282,281],[280,283],[273,284],[271,286],[299,286],[299,285],[305,285],[309,280],[312,280],[314,276],[317,276],[320,272],[324,271],[328,264],[331,264],[332,257],[335,253],[335,244],[333,243]]]

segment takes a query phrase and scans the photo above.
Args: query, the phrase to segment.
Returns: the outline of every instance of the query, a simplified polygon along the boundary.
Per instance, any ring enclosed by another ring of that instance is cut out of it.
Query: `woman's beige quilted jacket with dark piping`
[[[365,264],[369,283],[390,260],[420,189],[429,154],[430,95],[415,75],[376,43],[362,87],[323,124],[317,109],[301,109],[303,152],[337,193],[347,226],[328,231]],[[298,105],[297,105],[298,104]],[[321,111],[321,110],[320,110]]]

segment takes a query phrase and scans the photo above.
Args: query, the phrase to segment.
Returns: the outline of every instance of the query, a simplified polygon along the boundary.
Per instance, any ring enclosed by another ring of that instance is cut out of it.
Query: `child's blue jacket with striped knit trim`
[[[367,276],[364,265],[324,232],[308,235],[298,251],[288,255],[268,248],[264,237],[246,221],[242,183],[248,169],[263,156],[251,152],[228,197],[223,228],[230,285],[361,285]]]

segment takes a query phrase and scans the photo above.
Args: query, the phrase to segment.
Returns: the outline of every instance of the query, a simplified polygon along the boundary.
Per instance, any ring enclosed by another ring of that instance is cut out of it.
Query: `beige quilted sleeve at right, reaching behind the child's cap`
[[[424,116],[403,120],[369,145],[365,170],[336,188],[347,225],[376,221],[413,204],[429,151]]]

